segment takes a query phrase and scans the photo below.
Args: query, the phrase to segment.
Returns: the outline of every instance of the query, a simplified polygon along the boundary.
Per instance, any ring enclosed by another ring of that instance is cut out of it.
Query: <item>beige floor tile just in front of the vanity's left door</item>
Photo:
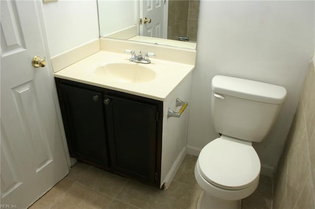
[[[78,182],[95,191],[114,198],[126,184],[127,179],[92,167],[78,180]]]

